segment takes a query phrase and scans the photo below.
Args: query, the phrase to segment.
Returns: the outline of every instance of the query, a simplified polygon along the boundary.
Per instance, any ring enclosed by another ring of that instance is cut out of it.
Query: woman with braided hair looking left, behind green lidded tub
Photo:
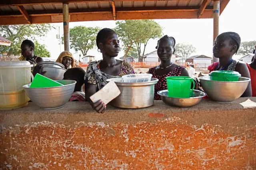
[[[229,70],[237,71],[241,74],[242,77],[250,78],[250,73],[248,67],[242,61],[236,61],[232,59],[232,56],[236,54],[240,47],[241,38],[235,32],[224,32],[220,34],[213,46],[213,55],[219,59],[219,62],[213,63],[208,67],[210,72],[216,70]],[[249,83],[246,91],[242,97],[251,97],[252,96],[252,87]]]

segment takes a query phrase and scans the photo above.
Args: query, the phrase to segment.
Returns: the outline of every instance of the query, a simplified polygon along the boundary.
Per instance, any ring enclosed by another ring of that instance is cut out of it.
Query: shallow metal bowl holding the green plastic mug
[[[157,92],[158,95],[161,96],[162,101],[166,105],[175,106],[175,107],[192,107],[200,103],[206,93],[193,90],[190,93],[190,98],[176,98],[176,97],[168,97],[168,90],[161,90]]]

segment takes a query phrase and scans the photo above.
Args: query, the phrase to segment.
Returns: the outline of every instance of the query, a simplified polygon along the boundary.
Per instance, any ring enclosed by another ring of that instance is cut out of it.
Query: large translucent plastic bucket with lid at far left
[[[30,99],[22,86],[34,78],[31,67],[28,61],[0,61],[0,110],[28,105]]]

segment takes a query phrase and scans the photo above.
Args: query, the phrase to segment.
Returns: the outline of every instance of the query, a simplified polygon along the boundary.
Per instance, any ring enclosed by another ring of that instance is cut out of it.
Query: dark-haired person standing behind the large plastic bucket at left
[[[34,65],[44,61],[42,57],[34,55],[35,45],[30,40],[24,40],[20,45],[20,49],[22,54],[22,56],[18,58],[20,61],[29,61]]]

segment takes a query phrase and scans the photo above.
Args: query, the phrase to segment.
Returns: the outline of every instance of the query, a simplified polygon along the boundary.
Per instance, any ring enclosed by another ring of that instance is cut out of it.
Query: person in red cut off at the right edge
[[[253,61],[246,63],[251,77],[252,97],[256,97],[256,53],[254,53]]]

